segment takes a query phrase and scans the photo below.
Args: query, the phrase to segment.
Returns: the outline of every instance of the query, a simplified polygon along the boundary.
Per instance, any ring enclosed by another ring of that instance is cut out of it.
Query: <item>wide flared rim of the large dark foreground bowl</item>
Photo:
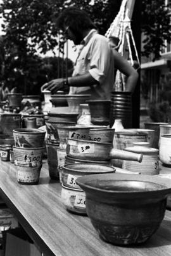
[[[92,180],[96,180],[96,181],[105,181],[103,179],[103,176],[108,176],[108,178],[105,180],[113,180],[113,181],[138,181],[138,182],[148,182],[148,183],[153,183],[153,184],[157,184],[157,185],[161,185],[162,187],[160,189],[156,189],[156,190],[139,190],[139,191],[129,191],[129,190],[125,190],[125,191],[118,191],[118,190],[106,190],[106,189],[102,189],[102,188],[97,188],[94,187],[92,185],[88,185],[87,183],[89,181]],[[112,177],[113,176],[113,177]],[[118,176],[118,178],[117,178]],[[141,176],[141,177],[139,177]],[[116,178],[114,178],[116,177]],[[112,179],[113,178],[113,179]],[[128,179],[128,180],[127,180]],[[83,181],[82,181],[83,180]],[[151,181],[152,180],[152,181]],[[116,174],[116,173],[109,173],[109,174],[90,174],[90,175],[86,175],[86,176],[82,176],[77,178],[76,180],[77,185],[79,185],[83,190],[85,188],[86,190],[91,190],[94,192],[94,194],[96,194],[97,192],[99,193],[103,193],[103,194],[109,194],[110,196],[115,197],[116,199],[120,200],[122,199],[131,199],[132,196],[146,196],[148,194],[151,194],[151,196],[155,196],[155,194],[157,192],[163,192],[164,194],[170,194],[171,192],[171,180],[169,180],[168,178],[161,178],[160,177],[153,177],[153,176],[149,176],[147,174],[143,174],[143,175],[136,175],[135,174]],[[89,192],[90,194],[90,192]],[[92,195],[92,193],[91,193]],[[120,197],[121,198],[120,198]],[[124,197],[122,197],[124,196]],[[92,195],[92,197],[94,197],[94,195]],[[148,198],[146,198],[148,199]]]

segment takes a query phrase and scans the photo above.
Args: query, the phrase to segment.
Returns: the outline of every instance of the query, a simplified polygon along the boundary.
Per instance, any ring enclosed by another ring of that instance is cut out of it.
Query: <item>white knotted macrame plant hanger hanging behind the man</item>
[[[118,11],[117,16],[111,23],[108,31],[105,36],[107,38],[113,37],[118,38],[118,44],[115,46],[115,50],[118,51],[123,57],[125,53],[125,48],[128,48],[128,55],[130,59],[130,64],[134,65],[134,60],[132,58],[132,48],[134,49],[137,63],[140,67],[139,57],[137,54],[136,43],[134,41],[134,36],[132,34],[132,29],[130,25],[130,17],[131,13],[129,10],[129,6],[133,4],[135,0],[122,0],[122,4],[120,6],[120,10]],[[131,47],[132,44],[132,47]],[[117,70],[115,83],[113,85],[113,90],[122,91],[125,90],[125,75],[120,73]]]

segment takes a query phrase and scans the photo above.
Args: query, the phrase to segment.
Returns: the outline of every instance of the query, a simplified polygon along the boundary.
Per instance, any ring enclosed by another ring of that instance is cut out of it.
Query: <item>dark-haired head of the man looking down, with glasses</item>
[[[84,38],[84,32],[96,29],[89,15],[75,7],[65,9],[56,20],[58,29],[63,31],[66,38],[79,45]]]

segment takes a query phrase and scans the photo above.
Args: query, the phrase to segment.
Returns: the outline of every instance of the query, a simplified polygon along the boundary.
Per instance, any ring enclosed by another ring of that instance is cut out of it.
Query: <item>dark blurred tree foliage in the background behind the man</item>
[[[155,58],[158,57],[163,42],[170,38],[169,15],[163,2],[142,0],[141,27],[147,36],[143,53],[146,56],[153,52]],[[54,21],[59,13],[68,6],[83,8],[90,14],[99,33],[105,34],[120,4],[121,0],[3,0],[0,15],[4,20],[5,34],[0,40],[1,82],[9,87],[17,85],[18,90],[27,94],[39,93],[46,79],[47,70],[44,71],[44,68],[47,66],[37,55],[37,50],[40,53],[54,52],[58,46],[56,36],[59,31]],[[56,63],[60,62],[62,60]],[[48,69],[50,76],[58,77],[57,69],[59,67],[51,71]],[[61,69],[60,66],[58,73],[63,76]]]

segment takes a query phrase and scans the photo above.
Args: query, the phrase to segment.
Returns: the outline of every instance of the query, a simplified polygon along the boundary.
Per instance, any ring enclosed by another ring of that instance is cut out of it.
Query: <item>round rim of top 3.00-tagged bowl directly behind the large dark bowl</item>
[[[65,170],[67,170],[67,171],[71,171],[71,173],[72,172],[76,172],[76,173],[82,173],[82,174],[84,174],[84,173],[86,173],[86,174],[89,174],[90,172],[88,172],[88,171],[86,171],[85,169],[84,170],[81,170],[81,169],[72,169],[72,168],[68,168],[68,166],[89,166],[90,168],[91,168],[91,166],[100,166],[100,167],[102,167],[103,169],[104,169],[104,171],[99,171],[99,173],[115,173],[115,171],[116,171],[116,169],[115,169],[115,167],[113,167],[113,166],[110,166],[110,165],[103,165],[103,164],[92,164],[92,163],[87,163],[87,164],[81,164],[81,163],[75,163],[75,164],[65,164],[64,166],[63,166],[63,169],[65,169]],[[111,170],[108,170],[108,171],[105,171],[105,168],[106,169],[111,169]],[[99,173],[97,173],[96,171],[92,171],[92,174],[99,174]]]

